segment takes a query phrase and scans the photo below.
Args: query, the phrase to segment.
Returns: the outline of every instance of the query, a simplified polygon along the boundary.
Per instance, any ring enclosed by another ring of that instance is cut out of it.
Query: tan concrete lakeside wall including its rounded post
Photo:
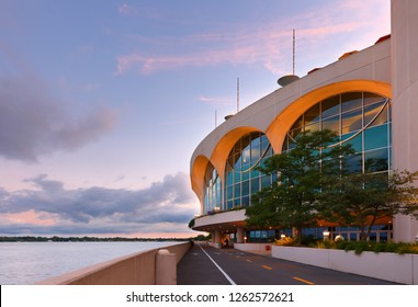
[[[176,264],[190,242],[152,249],[88,266],[36,283],[37,285],[155,285],[176,284]]]

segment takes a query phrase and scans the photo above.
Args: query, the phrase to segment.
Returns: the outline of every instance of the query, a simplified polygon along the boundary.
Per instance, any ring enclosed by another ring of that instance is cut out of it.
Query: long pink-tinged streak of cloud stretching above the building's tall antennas
[[[371,7],[373,8],[373,5]],[[165,54],[134,52],[121,55],[116,58],[116,73],[122,75],[128,70],[154,73],[181,67],[224,64],[261,64],[274,73],[283,73],[283,60],[287,62],[284,57],[292,53],[292,27],[296,29],[298,43],[305,43],[304,49],[300,53],[308,54],[312,52],[312,47],[319,47],[324,39],[330,38],[330,36],[335,39],[335,35],[338,34],[355,33],[366,27],[371,35],[375,35],[379,32],[376,29],[381,29],[381,26],[376,24],[376,20],[365,18],[365,15],[373,15],[381,24],[382,22],[389,24],[389,15],[384,10],[371,14],[371,9],[365,10],[364,4],[363,10],[359,8],[361,8],[361,1],[350,2],[350,4],[343,1],[327,9],[318,8],[318,11],[315,12],[279,20],[261,30],[240,26],[236,32],[203,33],[177,39],[155,37],[154,42],[148,41],[148,46],[155,46],[159,50],[163,49]],[[369,42],[369,45],[374,43],[374,38]],[[366,39],[370,39],[370,35],[359,33],[358,41]],[[337,44],[341,44],[341,42],[337,42]],[[188,53],[180,54],[179,50],[176,50],[178,46],[182,46]]]

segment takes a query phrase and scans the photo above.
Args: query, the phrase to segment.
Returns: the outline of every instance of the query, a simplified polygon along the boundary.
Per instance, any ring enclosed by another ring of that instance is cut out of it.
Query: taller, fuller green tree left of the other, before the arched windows
[[[318,220],[318,193],[338,182],[341,158],[352,151],[351,146],[339,145],[331,130],[301,133],[291,150],[270,157],[259,168],[267,175],[276,174],[276,181],[252,195],[247,225],[295,228],[301,242],[302,229]]]

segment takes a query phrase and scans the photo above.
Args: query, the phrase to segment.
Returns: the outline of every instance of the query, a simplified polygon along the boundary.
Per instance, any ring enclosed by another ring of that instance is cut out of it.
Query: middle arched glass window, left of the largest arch
[[[273,154],[262,133],[250,133],[230,150],[225,169],[225,201],[223,209],[251,204],[251,195],[272,183],[272,177],[262,175],[256,168]]]

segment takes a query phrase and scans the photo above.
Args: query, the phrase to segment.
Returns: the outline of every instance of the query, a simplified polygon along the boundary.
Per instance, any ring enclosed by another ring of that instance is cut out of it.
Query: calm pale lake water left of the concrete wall
[[[0,242],[0,285],[31,285],[117,257],[180,242]]]

